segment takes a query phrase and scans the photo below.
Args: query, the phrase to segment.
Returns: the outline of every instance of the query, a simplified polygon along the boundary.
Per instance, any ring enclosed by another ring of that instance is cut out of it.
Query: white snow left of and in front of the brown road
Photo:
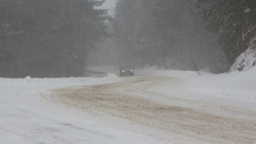
[[[158,143],[42,98],[48,90],[118,82],[102,78],[0,78],[0,143]]]

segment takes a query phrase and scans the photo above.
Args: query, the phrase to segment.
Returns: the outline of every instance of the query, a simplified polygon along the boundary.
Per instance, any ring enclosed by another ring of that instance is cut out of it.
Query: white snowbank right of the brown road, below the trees
[[[175,70],[158,70],[154,74],[183,79],[179,88],[202,94],[206,98],[225,98],[256,103],[256,67],[225,74],[204,73],[202,76],[194,71]],[[168,90],[167,86],[162,88]]]

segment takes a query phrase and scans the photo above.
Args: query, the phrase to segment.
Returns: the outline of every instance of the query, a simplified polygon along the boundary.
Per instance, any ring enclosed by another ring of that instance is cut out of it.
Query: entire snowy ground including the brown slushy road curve
[[[2,78],[0,143],[256,143],[253,81],[230,98],[211,77]]]

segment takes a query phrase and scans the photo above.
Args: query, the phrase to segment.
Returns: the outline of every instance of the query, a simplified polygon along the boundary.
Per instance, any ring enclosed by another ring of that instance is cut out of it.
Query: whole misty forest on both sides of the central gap
[[[84,76],[112,38],[118,65],[222,73],[255,49],[255,0],[0,0],[0,77]],[[108,26],[111,25],[111,30]]]

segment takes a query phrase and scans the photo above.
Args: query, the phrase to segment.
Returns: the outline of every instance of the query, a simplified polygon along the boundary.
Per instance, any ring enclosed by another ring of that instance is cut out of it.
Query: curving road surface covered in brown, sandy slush
[[[189,92],[178,89],[180,81],[157,75],[126,77],[116,83],[53,90],[47,97],[108,122],[119,119],[150,130],[145,134],[152,137],[172,139],[177,135],[202,143],[256,143],[255,110],[188,98]],[[154,90],[162,85],[174,93]]]

